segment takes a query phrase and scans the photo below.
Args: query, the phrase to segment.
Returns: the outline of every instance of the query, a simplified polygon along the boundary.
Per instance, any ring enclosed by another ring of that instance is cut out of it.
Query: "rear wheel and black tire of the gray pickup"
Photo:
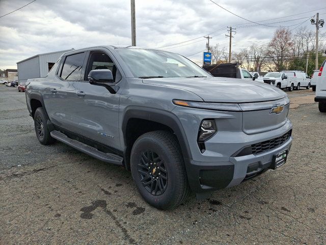
[[[50,136],[50,131],[47,128],[46,124],[47,120],[48,117],[43,107],[37,108],[34,114],[34,127],[36,137],[38,138],[41,144],[51,144],[56,141]]]

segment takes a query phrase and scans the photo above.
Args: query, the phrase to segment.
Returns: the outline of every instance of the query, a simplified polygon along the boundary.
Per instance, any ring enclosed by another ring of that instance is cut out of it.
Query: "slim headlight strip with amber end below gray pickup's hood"
[[[200,109],[216,110],[216,111],[242,111],[236,103],[209,103],[196,101],[173,100],[173,104],[177,106],[193,107]]]

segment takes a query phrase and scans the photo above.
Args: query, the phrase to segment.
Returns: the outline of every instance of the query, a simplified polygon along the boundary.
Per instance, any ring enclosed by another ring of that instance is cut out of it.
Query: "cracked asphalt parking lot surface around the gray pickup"
[[[24,93],[0,85],[0,243],[326,243],[326,114],[311,90],[288,94],[294,140],[285,165],[160,211],[124,168],[60,142],[41,145]]]

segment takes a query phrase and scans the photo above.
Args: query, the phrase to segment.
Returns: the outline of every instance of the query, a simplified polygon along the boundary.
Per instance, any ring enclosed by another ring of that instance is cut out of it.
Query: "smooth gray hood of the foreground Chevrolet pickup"
[[[143,79],[143,83],[188,90],[205,102],[263,102],[286,96],[285,92],[268,84],[233,78],[155,78]]]

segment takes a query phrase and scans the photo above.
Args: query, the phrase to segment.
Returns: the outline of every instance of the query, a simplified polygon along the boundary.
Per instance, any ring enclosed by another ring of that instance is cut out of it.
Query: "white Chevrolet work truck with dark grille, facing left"
[[[292,91],[294,86],[297,85],[294,72],[268,72],[262,79],[264,83],[281,89],[287,88],[289,91]]]

